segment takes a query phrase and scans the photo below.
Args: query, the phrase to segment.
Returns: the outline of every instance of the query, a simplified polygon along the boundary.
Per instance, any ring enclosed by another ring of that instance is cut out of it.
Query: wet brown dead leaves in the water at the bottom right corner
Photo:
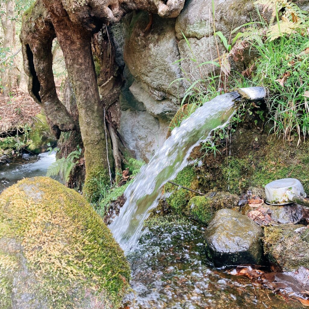
[[[309,269],[301,266],[294,272],[266,272],[260,266],[243,265],[228,270],[235,276],[246,276],[280,294],[284,298],[298,300],[309,306]]]

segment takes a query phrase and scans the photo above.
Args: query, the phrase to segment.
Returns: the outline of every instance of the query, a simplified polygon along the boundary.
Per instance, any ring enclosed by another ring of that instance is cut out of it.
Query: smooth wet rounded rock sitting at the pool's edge
[[[246,216],[222,209],[210,220],[205,240],[215,266],[259,264],[262,235],[260,226]]]

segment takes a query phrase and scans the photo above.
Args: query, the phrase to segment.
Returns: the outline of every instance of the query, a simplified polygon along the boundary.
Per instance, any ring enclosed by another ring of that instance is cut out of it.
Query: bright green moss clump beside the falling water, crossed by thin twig
[[[196,181],[196,172],[192,166],[185,167],[182,171],[180,171],[177,177],[173,180],[176,184],[180,184],[184,187],[194,189]],[[170,197],[168,197],[167,203],[171,206],[171,208],[176,211],[178,214],[182,214],[186,208],[186,205],[189,199],[195,196],[195,193],[183,189],[178,188],[174,184],[167,183],[164,186],[164,190],[166,192],[173,192]]]

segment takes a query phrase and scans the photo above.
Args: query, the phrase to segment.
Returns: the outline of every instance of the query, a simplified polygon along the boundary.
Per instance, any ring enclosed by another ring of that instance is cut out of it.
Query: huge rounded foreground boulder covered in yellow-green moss
[[[47,177],[0,195],[2,309],[118,308],[130,269],[77,192]]]

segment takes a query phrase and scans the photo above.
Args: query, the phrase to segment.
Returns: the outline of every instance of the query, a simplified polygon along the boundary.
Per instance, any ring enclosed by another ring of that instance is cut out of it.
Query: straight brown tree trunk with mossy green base
[[[58,42],[76,95],[79,127],[85,149],[86,177],[83,192],[96,199],[99,195],[97,182],[109,182],[110,163],[106,125],[91,51],[92,35],[71,22],[60,1],[45,5],[52,14]]]

